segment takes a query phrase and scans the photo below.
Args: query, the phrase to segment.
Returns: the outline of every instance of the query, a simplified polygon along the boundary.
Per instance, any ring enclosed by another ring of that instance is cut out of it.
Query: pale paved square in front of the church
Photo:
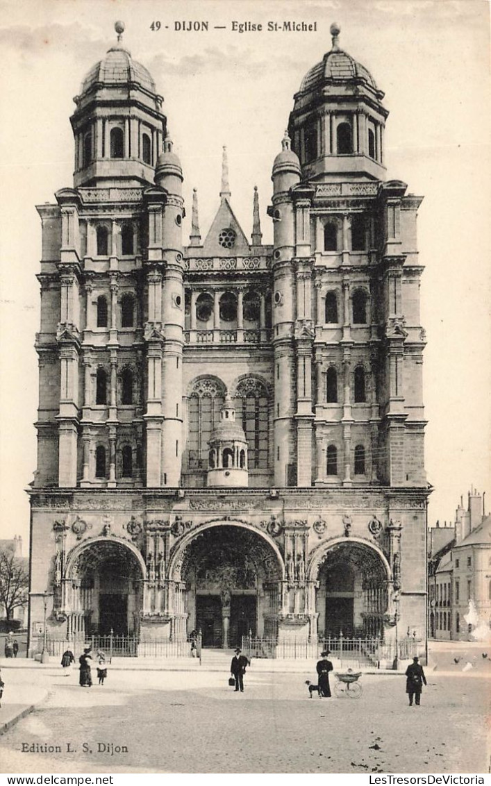
[[[5,669],[9,692],[28,682],[48,697],[2,736],[4,771],[487,772],[491,663],[471,655],[464,672],[452,654],[428,670],[421,707],[407,706],[405,678],[391,674],[365,675],[360,700],[310,700],[311,674],[254,667],[244,694],[227,687],[228,674],[208,671],[112,670],[103,687],[82,689],[75,670],[64,678],[57,667]]]

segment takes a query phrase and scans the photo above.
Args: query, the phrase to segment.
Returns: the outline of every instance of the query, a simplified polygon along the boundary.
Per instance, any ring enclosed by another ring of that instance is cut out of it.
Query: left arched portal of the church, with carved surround
[[[139,632],[145,564],[129,543],[94,538],[68,555],[64,611],[68,635]]]

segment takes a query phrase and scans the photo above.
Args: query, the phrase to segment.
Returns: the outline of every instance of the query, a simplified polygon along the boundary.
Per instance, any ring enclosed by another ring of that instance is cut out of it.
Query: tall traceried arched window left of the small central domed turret
[[[197,380],[189,397],[188,467],[207,469],[211,432],[220,422],[225,388],[218,380]]]

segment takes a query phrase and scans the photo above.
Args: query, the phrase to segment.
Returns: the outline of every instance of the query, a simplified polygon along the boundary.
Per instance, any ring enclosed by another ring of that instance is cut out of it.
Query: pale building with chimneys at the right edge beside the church
[[[484,515],[484,495],[471,489],[467,510],[460,498],[455,523],[446,529],[454,537],[428,563],[430,633],[439,639],[463,641],[473,634],[480,638],[484,631],[489,636],[491,516]]]

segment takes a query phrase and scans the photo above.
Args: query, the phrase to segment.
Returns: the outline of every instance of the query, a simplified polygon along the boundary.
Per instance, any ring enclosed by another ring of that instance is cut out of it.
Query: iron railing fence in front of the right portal
[[[398,658],[407,660],[418,655],[421,641],[408,637],[398,641]],[[275,637],[242,637],[242,650],[247,658],[316,659],[327,650],[331,659],[346,667],[379,667],[381,661],[393,663],[394,641],[377,638],[327,637],[322,639],[281,640]]]

